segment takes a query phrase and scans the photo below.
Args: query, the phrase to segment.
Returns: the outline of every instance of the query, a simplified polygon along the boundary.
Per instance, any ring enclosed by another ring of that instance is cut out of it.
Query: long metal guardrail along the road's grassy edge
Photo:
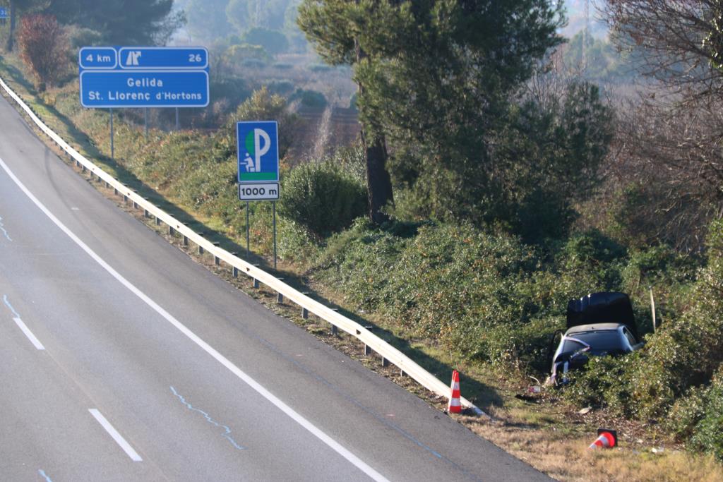
[[[416,380],[416,382],[421,384],[422,387],[427,390],[430,390],[442,397],[450,397],[450,387],[447,384],[442,382],[440,379],[437,379],[436,376],[430,374],[429,371],[423,369],[422,366],[419,366],[419,364],[406,356],[400,350],[394,348],[380,337],[377,337],[377,335],[374,335],[374,333],[366,327],[363,327],[361,324],[338,314],[334,309],[309,298],[309,296],[306,296],[304,293],[301,293],[295,288],[283,283],[270,273],[260,270],[258,267],[255,267],[253,264],[249,264],[243,259],[236,257],[234,254],[229,253],[225,249],[215,246],[213,242],[208,241],[208,239],[203,238],[200,234],[195,233],[192,229],[184,225],[184,223],[181,223],[181,221],[161,210],[160,207],[153,205],[147,199],[140,196],[140,194],[137,194],[132,189],[129,189],[128,186],[122,184],[116,178],[103,171],[103,169],[98,167],[98,165],[95,165],[90,160],[83,157],[80,152],[77,152],[77,150],[65,142],[64,139],[46,126],[42,119],[40,119],[40,116],[38,116],[33,109],[30,108],[30,106],[27,106],[22,98],[20,98],[20,96],[17,95],[1,78],[0,87],[2,87],[8,95],[10,95],[18,106],[27,113],[27,116],[29,116],[30,119],[32,119],[33,122],[56,143],[56,145],[70,155],[76,165],[80,165],[83,169],[87,169],[90,173],[97,176],[101,181],[105,181],[106,186],[113,187],[119,195],[124,197],[124,199],[130,199],[133,202],[134,207],[144,210],[145,215],[153,215],[155,217],[156,224],[158,224],[159,221],[165,223],[168,225],[169,230],[175,230],[181,234],[181,236],[184,236],[184,242],[190,240],[199,246],[200,252],[208,251],[210,254],[213,254],[216,264],[219,264],[221,261],[226,262],[226,264],[234,270],[234,275],[238,272],[243,272],[245,275],[251,277],[254,280],[254,286],[257,285],[257,282],[264,283],[273,291],[276,291],[276,293],[279,294],[280,299],[283,296],[299,305],[304,315],[307,315],[308,313],[315,314],[325,322],[330,323],[333,327],[337,327],[338,329],[347,332],[349,335],[361,340],[361,342],[365,345],[365,354],[368,354],[369,350],[374,350],[382,356],[382,364],[392,363],[404,374],[407,374],[412,379]],[[477,408],[464,397],[461,397],[461,405],[465,408],[474,410],[474,413],[477,415],[487,416],[486,413]]]

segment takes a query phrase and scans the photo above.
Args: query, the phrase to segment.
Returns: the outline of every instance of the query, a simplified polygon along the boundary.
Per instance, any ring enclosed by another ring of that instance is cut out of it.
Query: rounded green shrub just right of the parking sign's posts
[[[279,213],[326,237],[346,228],[367,209],[367,191],[330,161],[294,168],[283,182]]]

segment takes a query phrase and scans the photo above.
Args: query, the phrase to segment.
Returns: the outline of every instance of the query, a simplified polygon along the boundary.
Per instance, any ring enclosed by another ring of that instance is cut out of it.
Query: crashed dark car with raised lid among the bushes
[[[633,305],[625,293],[590,293],[570,300],[568,330],[552,356],[548,384],[567,384],[567,373],[590,356],[617,356],[642,348]]]

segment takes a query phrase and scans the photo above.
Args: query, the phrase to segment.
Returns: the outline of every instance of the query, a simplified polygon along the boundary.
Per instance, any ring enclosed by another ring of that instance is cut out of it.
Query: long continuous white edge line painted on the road
[[[301,416],[299,413],[296,412],[293,408],[286,405],[286,403],[283,403],[278,397],[273,395],[271,392],[266,390],[262,385],[257,382],[256,380],[252,379],[251,376],[247,375],[244,371],[239,369],[238,366],[234,365],[234,363],[231,363],[228,358],[221,355],[221,353],[218,353],[215,348],[213,348],[211,345],[203,341],[198,335],[196,335],[194,332],[189,330],[184,324],[179,322],[176,318],[174,318],[168,311],[161,308],[155,301],[150,299],[145,293],[140,291],[140,289],[136,288],[129,280],[124,278],[119,272],[114,270],[113,267],[111,267],[110,264],[108,264],[103,258],[98,256],[98,254],[95,254],[95,251],[93,249],[90,249],[87,244],[85,244],[83,241],[80,240],[75,234],[70,231],[66,225],[61,223],[61,221],[55,217],[55,215],[48,210],[45,205],[43,205],[42,202],[36,198],[32,192],[30,192],[27,187],[25,187],[25,184],[22,184],[20,182],[20,179],[18,179],[12,171],[10,171],[10,168],[7,166],[7,164],[4,163],[2,159],[0,159],[0,167],[4,169],[4,171],[7,173],[8,176],[12,179],[12,181],[17,184],[17,186],[25,193],[25,195],[33,201],[33,203],[45,213],[48,218],[50,218],[53,223],[55,223],[58,228],[61,229],[64,233],[67,234],[69,238],[71,238],[75,244],[80,246],[80,248],[85,251],[88,256],[93,258],[95,262],[100,264],[101,267],[103,267],[104,270],[106,270],[111,276],[116,278],[116,280],[121,283],[121,285],[124,285],[126,288],[128,288],[129,291],[131,291],[135,296],[140,298],[145,304],[150,306],[156,313],[160,314],[161,317],[166,319],[167,322],[172,324],[174,327],[176,327],[177,330],[179,330],[181,333],[186,335],[189,340],[191,340],[193,343],[198,345],[202,350],[204,350],[206,353],[208,353],[210,356],[213,356],[218,363],[221,363],[223,366],[225,366],[231,373],[238,376],[239,379],[241,379],[243,382],[245,382],[249,387],[251,387],[253,390],[255,390],[259,395],[264,397],[266,400],[268,400],[270,403],[276,406],[279,410],[283,411],[283,413],[286,413],[288,417],[290,417],[292,420],[296,421],[296,423],[299,423],[304,429],[307,429],[310,434],[317,437],[317,439],[320,439],[322,442],[328,445],[331,449],[333,449],[335,452],[337,452],[339,455],[344,457],[348,462],[350,462],[352,465],[354,465],[356,468],[364,472],[365,474],[369,475],[372,480],[379,481],[379,482],[388,482],[388,479],[385,478],[384,475],[378,473],[376,470],[374,470],[372,467],[367,465],[366,462],[361,460],[359,457],[356,457],[356,455],[352,454],[348,451],[345,447],[343,447],[340,443],[336,442],[334,439],[332,439],[330,436],[325,434],[324,431],[321,429],[318,429],[317,426],[315,426],[313,423],[308,421],[306,418]]]

